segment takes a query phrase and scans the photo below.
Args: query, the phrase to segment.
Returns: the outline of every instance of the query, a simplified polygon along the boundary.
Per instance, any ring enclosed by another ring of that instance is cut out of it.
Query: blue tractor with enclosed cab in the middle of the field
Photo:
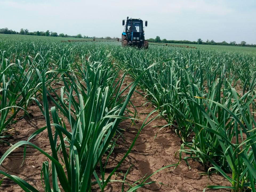
[[[141,19],[132,19],[127,17],[126,24],[123,20],[125,29],[122,33],[122,46],[133,46],[139,48],[149,48],[149,42],[145,40],[143,21]],[[147,27],[147,21],[145,21]]]

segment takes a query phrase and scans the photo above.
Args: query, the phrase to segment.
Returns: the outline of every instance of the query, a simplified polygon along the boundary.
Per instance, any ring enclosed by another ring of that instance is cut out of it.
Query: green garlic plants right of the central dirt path
[[[180,160],[199,161],[232,184],[209,188],[255,191],[255,55],[154,47],[115,51],[115,59],[134,79],[146,71],[139,86],[181,138]]]

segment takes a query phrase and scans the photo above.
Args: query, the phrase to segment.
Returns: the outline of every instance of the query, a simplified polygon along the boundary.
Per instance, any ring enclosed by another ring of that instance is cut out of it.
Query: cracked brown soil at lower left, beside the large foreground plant
[[[32,133],[46,125],[45,118],[37,106],[30,107],[30,110],[33,111],[33,116],[31,118],[25,117],[11,125],[11,128],[14,129],[11,132],[13,136],[8,142],[14,144],[18,141],[26,141]],[[51,152],[47,130],[43,131],[43,133],[35,137],[31,142],[45,150],[47,153]],[[9,149],[9,146],[1,145],[0,155],[2,156],[7,149]],[[5,159],[1,165],[1,170],[25,179],[25,181],[34,185],[36,189],[43,191],[41,183],[41,167],[42,163],[47,160],[45,155],[41,154],[39,151],[27,147],[25,162],[22,164],[23,147],[20,147]],[[4,179],[0,186],[0,191],[21,192],[23,190],[10,179]]]

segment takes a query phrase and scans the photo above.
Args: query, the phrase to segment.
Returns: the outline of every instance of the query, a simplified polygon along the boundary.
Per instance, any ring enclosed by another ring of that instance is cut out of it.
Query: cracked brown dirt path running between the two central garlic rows
[[[131,78],[126,77],[127,84],[129,84],[131,81]],[[137,89],[137,91],[142,93],[142,90]],[[125,120],[120,124],[120,127],[126,130],[124,132],[125,142],[120,139],[119,146],[115,148],[114,157],[112,157],[112,161],[109,164],[110,168],[117,165],[117,163],[122,159],[147,115],[152,110],[154,110],[154,107],[148,106],[147,104],[145,105],[145,103],[148,101],[138,93],[134,92],[131,98],[131,102],[134,106],[136,106],[136,110],[138,112],[137,118],[140,120],[138,123],[136,123],[136,125],[133,125],[130,120]],[[130,105],[128,108],[129,110],[134,111],[132,105]],[[156,113],[151,115],[151,118],[153,118],[155,115]],[[135,146],[133,147],[133,150],[126,158],[125,163],[123,163],[118,170],[119,174],[117,173],[113,179],[122,180],[127,169],[133,165],[126,177],[126,182],[132,184],[145,175],[148,176],[154,173],[161,167],[179,162],[178,157],[175,157],[175,153],[180,149],[181,140],[168,128],[163,128],[161,131],[159,131],[161,126],[164,125],[166,125],[166,122],[163,119],[158,118],[143,128],[135,143]],[[155,138],[156,134],[157,137]],[[189,167],[186,165],[186,163],[182,161],[176,169],[174,169],[174,167],[166,168],[165,170],[156,173],[149,180],[147,180],[147,182],[161,182],[164,185],[153,183],[146,185],[137,191],[196,192],[203,191],[207,185],[230,186],[230,183],[225,181],[221,175],[212,174],[209,177],[208,175],[199,175],[199,173],[205,172],[201,170],[202,165],[200,163],[190,161],[190,166],[191,170],[189,170]],[[106,191],[119,192],[121,191],[121,186],[122,183],[111,183],[108,185],[108,189]],[[127,185],[125,189],[128,189]],[[96,187],[95,191],[99,191],[99,189]],[[208,189],[206,191],[216,190]],[[218,191],[229,190],[220,189]]]

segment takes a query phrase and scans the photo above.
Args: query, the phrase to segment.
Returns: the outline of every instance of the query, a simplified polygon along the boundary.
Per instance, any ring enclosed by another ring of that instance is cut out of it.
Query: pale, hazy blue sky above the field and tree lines
[[[121,37],[126,17],[148,21],[145,38],[256,44],[255,0],[0,0],[0,28]]]

